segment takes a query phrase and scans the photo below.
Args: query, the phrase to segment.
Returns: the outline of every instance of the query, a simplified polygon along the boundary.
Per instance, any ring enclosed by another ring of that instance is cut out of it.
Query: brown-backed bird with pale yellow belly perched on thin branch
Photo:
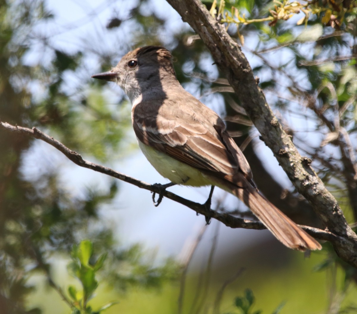
[[[110,71],[92,78],[115,82],[124,90],[132,103],[139,147],[171,185],[218,186],[243,201],[288,248],[322,248],[257,190],[250,165],[225,123],[181,86],[165,47],[136,48]]]

